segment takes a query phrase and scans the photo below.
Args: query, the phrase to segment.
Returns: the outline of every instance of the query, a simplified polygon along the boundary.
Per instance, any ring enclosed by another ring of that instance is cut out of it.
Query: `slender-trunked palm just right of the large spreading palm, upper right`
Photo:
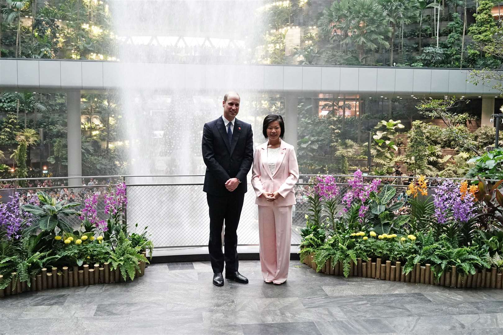
[[[379,4],[384,9],[386,19],[391,25],[391,36],[389,40],[389,64],[393,64],[393,43],[396,32],[396,26],[402,26],[403,40],[403,24],[409,24],[418,17],[420,5],[418,0],[380,0]],[[402,42],[403,46],[403,42]],[[403,48],[402,48],[403,49]]]

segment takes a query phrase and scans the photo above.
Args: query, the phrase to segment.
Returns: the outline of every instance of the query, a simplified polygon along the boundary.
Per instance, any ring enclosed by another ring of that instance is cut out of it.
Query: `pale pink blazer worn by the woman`
[[[255,203],[261,206],[290,206],[295,204],[293,187],[299,180],[299,165],[293,146],[281,141],[276,169],[271,174],[267,163],[267,142],[255,149],[251,186],[257,194]],[[281,195],[274,201],[259,198],[264,192],[276,192]]]

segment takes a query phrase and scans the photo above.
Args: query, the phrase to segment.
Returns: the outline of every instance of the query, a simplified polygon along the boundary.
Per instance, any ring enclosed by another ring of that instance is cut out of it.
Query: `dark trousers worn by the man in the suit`
[[[210,209],[210,253],[213,273],[238,271],[237,225],[243,207],[244,193],[217,196],[206,194]],[[222,253],[222,227],[225,221],[224,253]]]

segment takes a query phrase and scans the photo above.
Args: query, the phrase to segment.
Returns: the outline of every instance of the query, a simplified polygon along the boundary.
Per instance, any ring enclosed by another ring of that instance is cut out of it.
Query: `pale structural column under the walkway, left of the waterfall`
[[[82,175],[82,140],[80,134],[80,90],[66,93],[68,142],[68,177]],[[68,179],[68,186],[80,186],[80,178]]]

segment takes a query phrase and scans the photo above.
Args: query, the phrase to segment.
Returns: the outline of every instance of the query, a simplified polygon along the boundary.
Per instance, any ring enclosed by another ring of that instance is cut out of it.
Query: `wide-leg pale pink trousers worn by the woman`
[[[286,281],[291,238],[292,206],[259,205],[260,265],[265,281]]]

